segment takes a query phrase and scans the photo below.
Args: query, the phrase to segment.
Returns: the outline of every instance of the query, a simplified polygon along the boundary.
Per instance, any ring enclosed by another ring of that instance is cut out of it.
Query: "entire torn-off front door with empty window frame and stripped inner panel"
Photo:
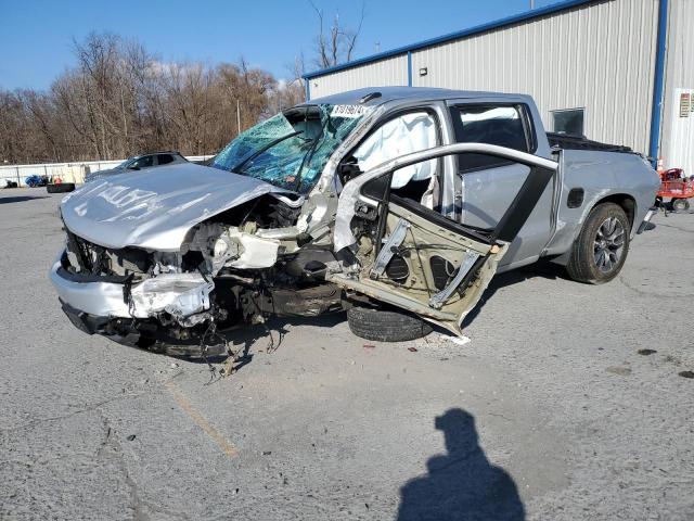
[[[494,228],[475,229],[390,193],[398,168],[467,150],[532,166]],[[531,154],[460,143],[409,154],[363,174],[345,186],[335,224],[335,247],[349,245],[357,271],[326,278],[461,334],[462,319],[481,297],[555,169],[556,163]]]

